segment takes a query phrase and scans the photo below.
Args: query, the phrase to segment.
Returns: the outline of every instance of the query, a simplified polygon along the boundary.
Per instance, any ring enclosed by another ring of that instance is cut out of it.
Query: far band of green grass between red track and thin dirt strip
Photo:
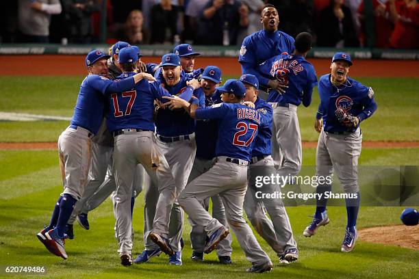
[[[227,79],[228,77],[225,77]],[[71,116],[83,77],[0,77],[0,111]],[[419,79],[360,78],[371,86],[379,109],[361,124],[364,140],[418,141]],[[314,116],[319,99],[299,107],[303,141],[316,141]],[[67,122],[0,122],[0,142],[55,142]],[[31,134],[31,136],[29,135]]]

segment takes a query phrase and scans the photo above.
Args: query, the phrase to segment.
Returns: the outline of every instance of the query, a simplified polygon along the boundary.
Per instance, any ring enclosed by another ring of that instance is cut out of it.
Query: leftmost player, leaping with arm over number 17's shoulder
[[[92,137],[99,130],[105,106],[103,94],[124,92],[142,79],[135,75],[124,81],[110,81],[107,58],[102,51],[90,51],[86,56],[88,76],[81,83],[71,124],[58,138],[58,152],[64,191],[55,204],[51,222],[37,234],[49,252],[66,259],[64,232],[73,207],[84,194],[91,160]]]

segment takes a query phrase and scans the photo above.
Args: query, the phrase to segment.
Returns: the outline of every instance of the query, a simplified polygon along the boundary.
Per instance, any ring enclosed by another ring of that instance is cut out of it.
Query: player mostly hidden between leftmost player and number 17
[[[115,79],[122,73],[118,64],[118,54],[119,51],[125,47],[131,46],[127,42],[122,41],[116,42],[116,44],[112,46],[112,51],[110,53],[112,54],[112,59],[108,61],[109,72],[107,75],[110,79]],[[140,49],[135,46],[133,47],[138,51],[139,57],[141,57]],[[89,230],[90,224],[88,222],[88,212],[99,207],[99,205],[115,191],[116,184],[112,171],[113,151],[114,137],[111,135],[110,131],[107,130],[106,118],[103,118],[98,133],[92,138],[92,163],[88,175],[88,184],[86,185],[83,197],[75,204],[73,213],[68,220],[66,231],[68,238],[74,238],[73,223],[76,218],[82,228]],[[134,209],[135,197],[142,191],[143,177],[144,168],[142,168],[141,165],[138,165],[136,169],[136,180],[134,181],[133,187],[133,197],[131,198],[131,209]],[[112,202],[115,208],[113,198]]]

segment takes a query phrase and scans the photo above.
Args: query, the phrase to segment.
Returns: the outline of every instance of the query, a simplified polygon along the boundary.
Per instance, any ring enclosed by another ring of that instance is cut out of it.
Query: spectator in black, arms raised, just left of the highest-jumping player
[[[240,28],[249,25],[248,14],[249,8],[238,0],[209,1],[203,10],[208,23],[205,44],[237,44]]]

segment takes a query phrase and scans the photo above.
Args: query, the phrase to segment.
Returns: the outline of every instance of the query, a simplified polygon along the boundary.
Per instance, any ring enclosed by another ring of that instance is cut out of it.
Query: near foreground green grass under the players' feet
[[[418,165],[419,149],[364,149],[361,165]],[[304,165],[314,165],[314,148],[303,150]],[[153,258],[151,263],[123,267],[119,263],[114,239],[112,204],[107,200],[89,213],[90,230],[75,224],[75,239],[66,242],[67,261],[53,256],[36,239],[36,233],[49,222],[51,210],[62,191],[58,155],[55,150],[0,150],[0,265],[44,266],[48,278],[262,278],[246,274],[249,267],[236,239],[233,265],[217,263],[213,252],[204,263],[190,260],[190,226],[186,222],[183,239],[183,265],[167,264],[168,257]],[[134,209],[134,254],[142,251],[141,194]],[[346,223],[344,207],[329,207],[331,223],[315,237],[305,238],[302,231],[313,207],[288,207],[287,211],[299,245],[299,261],[280,266],[266,243],[262,248],[274,262],[274,270],[264,278],[418,278],[419,251],[358,241],[350,254],[340,252]],[[362,207],[358,228],[400,224],[399,207]],[[0,277],[4,275],[0,273]],[[27,278],[26,276],[23,276]]]

